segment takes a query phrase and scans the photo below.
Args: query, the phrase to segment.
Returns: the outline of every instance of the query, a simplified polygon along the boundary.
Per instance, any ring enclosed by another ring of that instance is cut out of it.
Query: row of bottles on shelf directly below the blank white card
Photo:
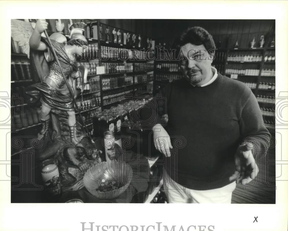
[[[133,84],[133,76],[117,76],[102,78],[102,89],[113,89]]]

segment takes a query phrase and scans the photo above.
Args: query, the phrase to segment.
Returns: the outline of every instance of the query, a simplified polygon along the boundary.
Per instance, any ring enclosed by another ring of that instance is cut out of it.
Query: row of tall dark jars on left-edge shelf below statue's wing
[[[11,80],[29,80],[30,63],[29,62],[11,62]]]

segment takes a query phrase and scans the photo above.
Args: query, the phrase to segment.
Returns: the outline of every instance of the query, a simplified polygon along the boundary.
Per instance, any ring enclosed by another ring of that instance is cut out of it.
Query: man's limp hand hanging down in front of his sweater
[[[170,157],[170,149],[172,149],[170,136],[162,127],[162,125],[157,124],[153,127],[153,140],[155,148],[164,154],[166,157]]]

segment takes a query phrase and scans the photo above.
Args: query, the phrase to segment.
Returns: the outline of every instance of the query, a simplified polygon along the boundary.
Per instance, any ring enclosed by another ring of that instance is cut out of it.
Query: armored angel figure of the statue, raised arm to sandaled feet
[[[30,53],[33,53],[33,50],[37,52],[41,51],[45,57],[43,62],[46,63],[46,66],[42,65],[41,67],[38,67],[38,69],[42,69],[38,71],[39,78],[42,80],[42,82],[28,87],[26,89],[26,93],[31,95],[30,101],[41,97],[40,101],[42,105],[40,119],[42,129],[39,132],[38,137],[43,138],[48,132],[50,123],[49,114],[51,109],[54,108],[64,110],[68,114],[68,125],[70,127],[71,141],[74,145],[77,145],[80,140],[76,135],[76,118],[73,99],[69,94],[68,86],[62,77],[60,68],[52,53],[52,48],[50,47],[47,38],[41,37],[41,33],[43,33],[47,27],[48,22],[46,22],[44,19],[39,19],[36,22],[35,29],[33,30],[31,27],[27,30],[27,35],[25,35],[26,39],[29,40],[29,43],[26,43],[26,47],[30,46]],[[12,30],[12,38],[15,37],[13,36],[13,33],[14,32]],[[82,90],[82,75],[79,68],[77,68],[75,65],[75,61],[76,56],[81,56],[82,49],[88,45],[87,40],[81,33],[73,33],[69,42],[67,42],[64,35],[60,33],[53,33],[50,36],[50,40],[61,63],[65,78],[68,80],[67,82],[69,83],[69,88],[72,90],[72,92],[74,92],[74,95],[77,96]],[[26,51],[29,52],[29,48],[26,49]],[[77,82],[76,88],[73,86],[74,80]]]

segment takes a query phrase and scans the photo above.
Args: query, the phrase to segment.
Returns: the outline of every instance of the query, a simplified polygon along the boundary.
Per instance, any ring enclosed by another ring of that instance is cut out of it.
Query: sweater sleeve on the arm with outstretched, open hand
[[[240,134],[241,144],[247,142],[253,144],[253,155],[267,152],[271,135],[264,125],[262,112],[257,99],[252,92],[241,113]]]

